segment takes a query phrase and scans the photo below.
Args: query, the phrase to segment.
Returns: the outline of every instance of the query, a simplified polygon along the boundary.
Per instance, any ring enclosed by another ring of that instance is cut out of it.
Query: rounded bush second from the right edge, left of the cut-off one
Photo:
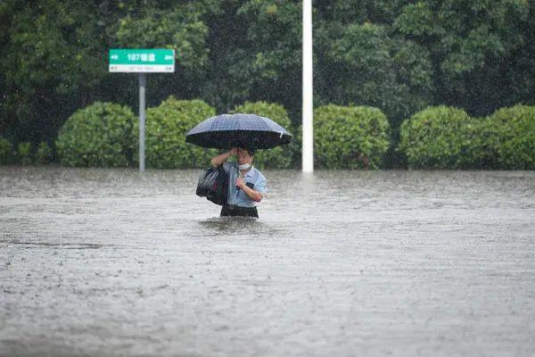
[[[410,168],[458,169],[485,162],[484,123],[444,105],[416,112],[401,125],[399,150]],[[480,137],[480,139],[477,139]]]

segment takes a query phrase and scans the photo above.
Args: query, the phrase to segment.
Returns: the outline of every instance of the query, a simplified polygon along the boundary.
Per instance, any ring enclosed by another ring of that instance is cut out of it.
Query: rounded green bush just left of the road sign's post
[[[119,104],[96,102],[65,122],[56,147],[66,166],[119,167],[132,162],[134,112]]]

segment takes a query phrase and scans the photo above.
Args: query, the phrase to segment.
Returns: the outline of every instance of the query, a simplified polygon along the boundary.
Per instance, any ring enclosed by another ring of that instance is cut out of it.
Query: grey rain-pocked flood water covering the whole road
[[[532,356],[535,172],[0,167],[0,355]]]

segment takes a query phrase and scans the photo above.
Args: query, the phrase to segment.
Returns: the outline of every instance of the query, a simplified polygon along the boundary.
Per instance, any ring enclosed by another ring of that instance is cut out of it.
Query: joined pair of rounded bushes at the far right
[[[503,108],[488,118],[437,106],[401,125],[399,150],[423,169],[535,168],[535,107]]]

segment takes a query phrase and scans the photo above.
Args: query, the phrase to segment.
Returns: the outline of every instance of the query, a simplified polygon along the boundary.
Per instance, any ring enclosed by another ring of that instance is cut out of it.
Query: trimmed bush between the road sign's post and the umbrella
[[[201,100],[177,100],[170,96],[157,107],[147,109],[145,155],[147,166],[158,169],[207,168],[215,149],[185,142],[185,133],[200,121],[216,115],[216,110]],[[135,160],[138,160],[139,125],[134,130]]]

